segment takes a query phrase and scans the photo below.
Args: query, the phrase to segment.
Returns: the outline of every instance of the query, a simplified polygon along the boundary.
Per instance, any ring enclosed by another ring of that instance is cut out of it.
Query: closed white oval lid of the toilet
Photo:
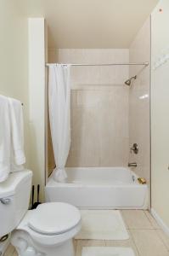
[[[32,211],[29,227],[44,235],[57,235],[76,226],[81,214],[76,207],[62,202],[43,203]]]

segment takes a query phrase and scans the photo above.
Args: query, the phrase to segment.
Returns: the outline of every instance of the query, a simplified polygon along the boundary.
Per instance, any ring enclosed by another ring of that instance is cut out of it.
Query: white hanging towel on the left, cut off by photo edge
[[[10,172],[11,130],[8,98],[0,96],[0,183]]]

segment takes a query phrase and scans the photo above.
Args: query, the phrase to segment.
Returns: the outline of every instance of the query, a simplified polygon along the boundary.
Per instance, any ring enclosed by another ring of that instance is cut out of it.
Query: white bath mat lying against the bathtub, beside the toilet
[[[82,230],[76,239],[126,240],[129,238],[121,212],[82,210]]]

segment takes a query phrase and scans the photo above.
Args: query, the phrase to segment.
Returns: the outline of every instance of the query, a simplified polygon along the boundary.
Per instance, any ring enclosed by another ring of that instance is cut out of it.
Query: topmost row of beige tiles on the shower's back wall
[[[59,62],[127,62],[128,49],[59,49]],[[112,71],[113,69],[113,71]],[[71,84],[123,84],[128,67],[72,67]]]

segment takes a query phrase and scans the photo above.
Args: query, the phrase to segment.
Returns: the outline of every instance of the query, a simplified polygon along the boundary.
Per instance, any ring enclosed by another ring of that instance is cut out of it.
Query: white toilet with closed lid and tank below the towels
[[[20,256],[74,256],[72,238],[81,214],[62,202],[43,203],[28,211],[32,172],[14,172],[0,184],[0,237],[12,232]]]

